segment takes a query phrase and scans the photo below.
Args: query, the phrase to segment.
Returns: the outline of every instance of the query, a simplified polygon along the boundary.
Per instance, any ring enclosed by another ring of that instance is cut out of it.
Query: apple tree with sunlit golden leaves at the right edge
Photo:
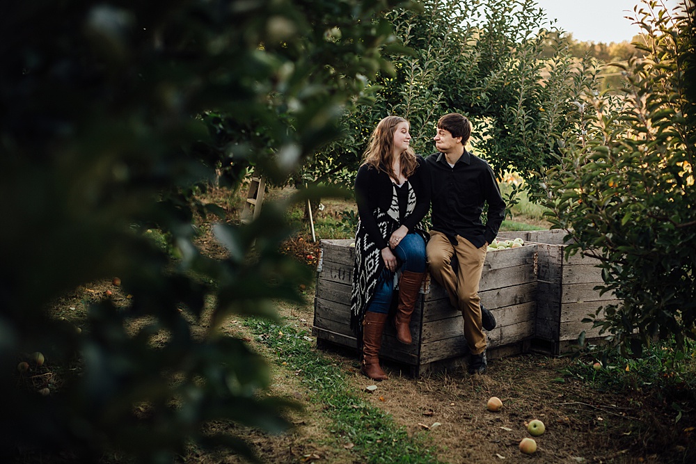
[[[693,3],[636,8],[642,58],[622,65],[622,95],[587,94],[580,125],[559,140],[560,165],[538,198],[569,230],[569,253],[601,260],[622,305],[595,314],[624,353],[656,339],[696,338],[696,37]]]

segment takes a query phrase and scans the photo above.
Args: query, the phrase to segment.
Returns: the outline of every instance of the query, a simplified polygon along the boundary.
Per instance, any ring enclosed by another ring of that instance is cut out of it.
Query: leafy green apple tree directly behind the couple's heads
[[[363,98],[347,106],[342,138],[308,159],[301,182],[350,188],[370,132],[388,114],[411,121],[412,145],[427,156],[436,120],[459,111],[475,126],[477,154],[501,177],[516,170],[535,186],[528,173],[556,162],[553,135],[574,124],[571,102],[599,88],[598,65],[573,58],[533,0],[427,0],[386,18],[396,40],[383,53],[395,73],[367,81]]]

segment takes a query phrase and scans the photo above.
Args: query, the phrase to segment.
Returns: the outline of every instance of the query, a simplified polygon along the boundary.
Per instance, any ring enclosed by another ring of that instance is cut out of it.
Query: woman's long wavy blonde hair
[[[379,121],[377,127],[372,131],[370,141],[367,143],[367,150],[363,154],[363,164],[369,164],[391,177],[398,177],[393,173],[391,166],[394,161],[394,132],[397,125],[401,122],[406,122],[409,127],[411,126],[409,121],[399,116],[387,116]],[[400,153],[399,157],[401,173],[406,178],[411,177],[416,172],[416,167],[418,167],[418,160],[416,159],[416,153],[413,152],[413,148],[409,147],[406,151]]]

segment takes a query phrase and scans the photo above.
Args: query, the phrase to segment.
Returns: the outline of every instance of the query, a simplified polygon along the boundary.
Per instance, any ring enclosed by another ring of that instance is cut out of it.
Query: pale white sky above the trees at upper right
[[[581,42],[622,42],[631,40],[640,33],[640,28],[631,24],[633,7],[640,0],[536,0],[539,8],[546,10],[547,19],[557,19],[555,26],[573,33]],[[684,0],[665,0],[672,10]]]

